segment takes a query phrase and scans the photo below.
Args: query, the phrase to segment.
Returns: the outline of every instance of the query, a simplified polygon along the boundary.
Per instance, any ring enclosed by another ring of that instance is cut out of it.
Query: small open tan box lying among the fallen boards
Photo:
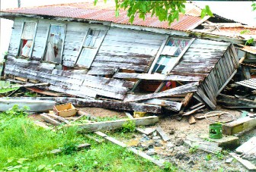
[[[61,117],[72,117],[76,114],[76,109],[71,103],[56,105],[53,107],[53,111],[56,115]]]

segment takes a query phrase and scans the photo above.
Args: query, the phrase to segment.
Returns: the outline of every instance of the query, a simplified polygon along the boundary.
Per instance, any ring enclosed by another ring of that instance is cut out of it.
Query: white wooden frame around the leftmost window
[[[28,55],[28,57],[26,57],[26,56],[22,56],[21,55],[21,49],[22,49],[22,47],[21,47],[21,42],[22,42],[22,40],[24,40],[24,39],[21,39],[21,36],[22,36],[22,34],[23,34],[23,32],[24,32],[24,26],[25,26],[25,23],[35,23],[35,28],[34,28],[34,33],[33,33],[33,39],[32,39],[32,45],[31,45],[31,49],[30,49],[30,53],[29,53],[29,55]],[[18,53],[17,53],[17,57],[20,57],[20,56],[22,56],[22,57],[24,57],[24,58],[28,58],[28,59],[31,59],[32,58],[32,53],[33,53],[33,50],[34,50],[34,42],[35,42],[35,39],[36,39],[36,36],[37,36],[37,26],[38,26],[38,20],[24,20],[24,22],[22,23],[22,26],[21,26],[21,33],[20,33],[20,39],[19,39],[19,45],[18,45]]]

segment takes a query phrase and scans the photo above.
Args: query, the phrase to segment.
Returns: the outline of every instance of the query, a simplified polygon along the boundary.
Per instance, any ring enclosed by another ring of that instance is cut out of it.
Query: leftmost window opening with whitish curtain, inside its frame
[[[35,28],[37,27],[36,22],[25,22],[21,34],[21,47],[19,55],[24,57],[30,57],[34,44]]]

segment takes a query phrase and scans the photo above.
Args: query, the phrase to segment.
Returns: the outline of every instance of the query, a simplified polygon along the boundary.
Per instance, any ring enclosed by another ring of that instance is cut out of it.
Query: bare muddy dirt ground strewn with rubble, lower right
[[[82,108],[80,110],[86,111],[88,114],[95,117],[126,117],[123,111],[112,111],[103,108]],[[202,116],[209,111],[209,109],[204,109],[200,113],[195,114],[195,117]],[[241,117],[242,114],[242,111],[225,109],[219,106],[215,111],[228,112],[229,114],[233,115],[234,119]],[[159,145],[154,145],[153,142],[155,142],[155,138],[157,139],[158,137],[156,132],[149,136],[134,133],[133,139],[123,138],[121,141],[136,149],[142,149],[146,153],[153,150],[152,156],[176,164],[179,167],[179,171],[248,171],[238,161],[233,160],[230,164],[227,164],[226,160],[232,158],[228,153],[223,155],[215,155],[202,150],[196,150],[195,152],[191,153],[190,146],[184,143],[184,139],[190,134],[209,134],[209,125],[213,122],[202,119],[197,120],[196,124],[189,124],[188,117],[183,117],[182,119],[178,118],[178,115],[165,114],[165,116],[159,116],[158,124],[151,126],[151,128],[158,126],[162,127],[165,133],[167,133],[171,138],[171,140],[168,142],[163,142],[161,140]],[[217,117],[212,117],[211,119],[225,121],[230,120],[231,117],[224,115],[220,119]],[[243,143],[252,136],[256,136],[255,129],[247,133],[246,136],[239,138],[240,142]],[[149,150],[150,146],[152,146],[150,148],[151,150]],[[253,161],[253,163],[255,164],[256,162]]]

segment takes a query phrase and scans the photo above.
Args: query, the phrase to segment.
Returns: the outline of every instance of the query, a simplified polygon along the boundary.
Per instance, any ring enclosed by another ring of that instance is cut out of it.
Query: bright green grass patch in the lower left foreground
[[[69,155],[32,156],[74,142],[90,143],[91,148]],[[118,145],[86,139],[75,127],[53,132],[10,113],[0,114],[0,155],[0,171],[164,171]]]

